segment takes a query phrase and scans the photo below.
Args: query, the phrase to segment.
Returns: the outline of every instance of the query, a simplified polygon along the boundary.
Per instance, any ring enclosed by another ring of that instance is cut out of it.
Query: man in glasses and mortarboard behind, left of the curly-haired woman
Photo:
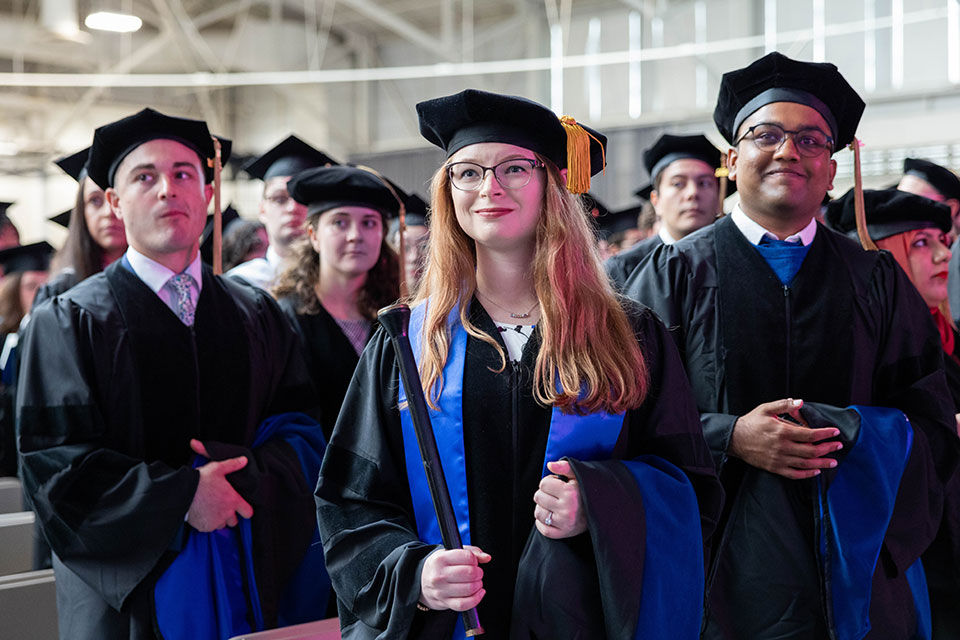
[[[305,233],[304,221],[307,219],[307,208],[290,197],[287,182],[304,169],[335,164],[339,163],[291,135],[244,165],[244,171],[263,180],[260,222],[267,230],[270,246],[263,258],[237,265],[227,272],[228,276],[267,291],[273,287],[283,262],[292,254],[294,243]]]

